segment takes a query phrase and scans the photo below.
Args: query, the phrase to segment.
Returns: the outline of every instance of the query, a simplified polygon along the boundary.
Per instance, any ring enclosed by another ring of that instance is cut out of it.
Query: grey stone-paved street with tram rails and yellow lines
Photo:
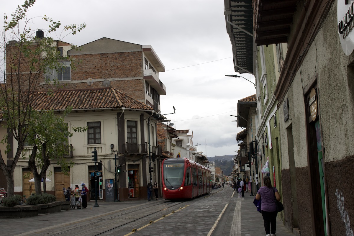
[[[164,199],[151,202],[98,202],[99,207],[94,207],[95,201],[90,201],[86,209],[21,219],[1,219],[0,227],[4,235],[82,233],[87,236],[107,231],[103,235],[264,236],[262,215],[253,205],[254,197],[249,195],[245,193],[245,197],[239,198],[225,186],[224,189],[213,190],[209,195],[186,202]],[[158,211],[160,208],[161,211]],[[124,220],[128,223],[109,231],[124,223]],[[96,225],[98,221],[102,221],[100,226]],[[150,224],[150,221],[154,222]],[[134,228],[138,230],[131,232]],[[293,235],[285,229],[279,218],[276,235]]]

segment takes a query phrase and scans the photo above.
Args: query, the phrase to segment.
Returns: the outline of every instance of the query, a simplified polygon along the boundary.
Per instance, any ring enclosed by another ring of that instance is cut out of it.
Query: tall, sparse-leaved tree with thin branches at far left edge
[[[6,146],[5,154],[9,155],[4,161],[0,150],[0,167],[6,177],[8,196],[13,196],[13,172],[19,157],[22,154],[24,142],[28,135],[28,124],[33,110],[33,94],[44,82],[46,70],[59,68],[60,60],[70,60],[61,57],[57,50],[56,42],[50,37],[60,30],[61,23],[44,16],[43,21],[49,24],[46,36],[36,38],[30,24],[33,18],[28,18],[29,8],[35,0],[26,0],[18,6],[11,17],[4,16],[4,25],[1,31],[0,50],[4,54],[3,65],[0,67],[4,84],[0,86],[1,125],[7,129],[2,143]],[[62,32],[76,34],[86,27],[86,24],[64,26]],[[59,35],[62,35],[61,33]],[[7,43],[8,42],[8,43]],[[73,63],[74,64],[74,63]],[[49,81],[46,81],[49,83]],[[56,84],[54,82],[50,82]],[[49,125],[49,124],[43,124]],[[15,139],[18,144],[16,150],[10,150],[8,141]]]

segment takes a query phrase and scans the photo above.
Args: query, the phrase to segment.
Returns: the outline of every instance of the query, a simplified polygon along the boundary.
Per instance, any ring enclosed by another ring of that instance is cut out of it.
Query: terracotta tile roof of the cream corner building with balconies
[[[69,106],[72,106],[73,110],[102,110],[123,107],[153,110],[148,105],[112,87],[57,90],[52,93],[36,92],[33,94],[32,107],[36,110],[64,110]]]

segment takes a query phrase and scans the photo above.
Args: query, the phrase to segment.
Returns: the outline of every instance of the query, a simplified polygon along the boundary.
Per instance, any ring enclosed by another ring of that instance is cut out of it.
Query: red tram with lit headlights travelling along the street
[[[211,192],[211,171],[187,158],[162,161],[162,196],[187,199]]]

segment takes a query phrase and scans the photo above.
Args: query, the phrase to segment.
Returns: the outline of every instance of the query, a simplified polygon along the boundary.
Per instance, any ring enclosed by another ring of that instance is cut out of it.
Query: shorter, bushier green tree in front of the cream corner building
[[[49,111],[32,111],[31,119],[28,124],[27,144],[32,149],[32,154],[28,160],[28,166],[34,175],[34,185],[36,194],[40,195],[41,180],[46,179],[46,171],[51,161],[62,166],[62,171],[68,172],[69,167],[74,165],[72,160],[66,159],[69,156],[70,147],[68,138],[72,137],[68,124],[64,122],[71,107],[65,109],[62,115],[57,115],[53,110]],[[47,125],[43,125],[47,124]],[[86,128],[75,128],[75,131],[85,131]],[[25,158],[25,157],[24,157]],[[46,193],[46,182],[43,181],[43,191]]]

